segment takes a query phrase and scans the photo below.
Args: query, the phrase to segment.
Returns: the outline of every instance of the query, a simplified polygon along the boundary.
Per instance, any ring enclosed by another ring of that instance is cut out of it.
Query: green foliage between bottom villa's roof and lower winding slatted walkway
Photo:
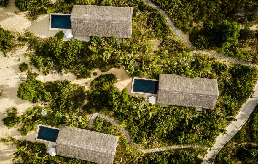
[[[158,153],[145,154],[141,151],[135,150],[127,141],[124,134],[121,134],[120,129],[112,125],[111,123],[103,120],[102,118],[96,118],[93,131],[98,131],[105,134],[111,134],[119,136],[116,155],[114,163],[120,163],[120,157],[123,157],[122,164],[124,163],[201,163],[201,159],[197,155],[204,155],[203,149],[180,149],[170,150]]]

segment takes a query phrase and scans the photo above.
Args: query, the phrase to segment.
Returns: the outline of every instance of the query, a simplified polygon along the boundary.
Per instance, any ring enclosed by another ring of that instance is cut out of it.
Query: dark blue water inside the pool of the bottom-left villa
[[[58,136],[59,130],[52,129],[45,126],[39,126],[38,139],[43,139],[51,142],[55,142]]]

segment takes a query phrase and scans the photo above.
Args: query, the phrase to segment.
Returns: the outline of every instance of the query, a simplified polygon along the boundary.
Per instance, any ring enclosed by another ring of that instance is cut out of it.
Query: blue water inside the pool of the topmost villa
[[[71,29],[71,15],[51,14],[51,28]]]

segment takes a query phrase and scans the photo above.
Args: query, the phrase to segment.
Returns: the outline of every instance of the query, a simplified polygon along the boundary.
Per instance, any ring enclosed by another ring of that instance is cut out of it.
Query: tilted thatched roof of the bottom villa
[[[56,139],[56,154],[112,164],[117,141],[117,136],[62,125]]]

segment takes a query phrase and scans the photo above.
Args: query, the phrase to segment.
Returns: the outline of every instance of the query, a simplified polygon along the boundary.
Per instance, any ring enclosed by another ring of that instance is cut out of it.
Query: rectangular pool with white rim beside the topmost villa
[[[50,30],[71,29],[71,14],[51,13],[49,21]]]

